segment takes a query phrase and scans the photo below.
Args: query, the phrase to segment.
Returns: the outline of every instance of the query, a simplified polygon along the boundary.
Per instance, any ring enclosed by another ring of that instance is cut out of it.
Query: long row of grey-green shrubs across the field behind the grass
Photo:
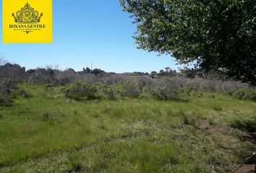
[[[210,82],[213,83],[213,81]],[[216,89],[218,88],[217,86],[211,88],[210,84],[211,83],[200,85],[200,83],[186,83],[184,78],[163,78],[158,79],[152,84],[143,84],[139,81],[119,81],[117,84],[91,84],[83,81],[75,81],[72,84],[64,86],[62,91],[66,97],[77,101],[100,98],[117,99],[119,97],[154,97],[161,100],[180,100],[189,96],[202,97],[202,92],[205,91],[223,91],[221,89]],[[236,92],[229,90],[229,92],[226,93],[239,99],[255,100],[256,97],[255,90],[253,89],[239,89]],[[221,110],[219,107],[213,109]]]

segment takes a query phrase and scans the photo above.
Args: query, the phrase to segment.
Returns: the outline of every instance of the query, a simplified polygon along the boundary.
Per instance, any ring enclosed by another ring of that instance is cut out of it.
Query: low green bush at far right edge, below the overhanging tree
[[[231,95],[236,99],[256,101],[256,89],[238,89]]]

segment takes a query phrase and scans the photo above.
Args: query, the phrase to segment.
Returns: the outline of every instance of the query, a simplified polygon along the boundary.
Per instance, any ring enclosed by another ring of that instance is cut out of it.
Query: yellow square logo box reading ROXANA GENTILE
[[[52,43],[52,0],[3,0],[3,43]]]

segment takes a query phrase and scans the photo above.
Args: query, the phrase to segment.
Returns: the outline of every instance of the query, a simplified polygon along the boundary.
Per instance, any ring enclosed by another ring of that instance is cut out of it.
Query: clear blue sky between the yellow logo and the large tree
[[[91,62],[93,68],[118,73],[177,69],[174,58],[136,48],[136,26],[118,0],[54,0],[53,5],[52,44],[0,43],[1,56],[27,69],[59,65],[80,71]]]

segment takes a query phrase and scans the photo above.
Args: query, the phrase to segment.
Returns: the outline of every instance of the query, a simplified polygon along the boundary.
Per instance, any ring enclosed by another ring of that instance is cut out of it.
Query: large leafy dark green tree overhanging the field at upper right
[[[120,0],[139,48],[256,84],[255,0]]]

